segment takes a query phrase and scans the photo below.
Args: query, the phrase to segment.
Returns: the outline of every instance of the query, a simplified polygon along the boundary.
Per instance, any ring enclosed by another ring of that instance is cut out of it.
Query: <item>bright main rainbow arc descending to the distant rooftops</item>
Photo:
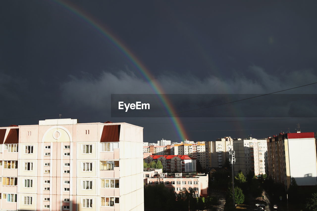
[[[154,79],[153,75],[150,71],[142,64],[142,62],[133,55],[131,50],[129,50],[122,41],[116,38],[113,34],[110,33],[110,30],[107,30],[103,24],[98,22],[98,20],[92,18],[89,14],[85,13],[80,8],[76,7],[74,4],[62,2],[60,0],[54,0],[59,5],[73,12],[75,15],[79,16],[82,20],[93,26],[97,29],[102,35],[104,35],[114,46],[117,48],[125,57],[128,59],[134,67],[141,73],[141,75],[148,81],[149,85],[153,89],[153,91],[158,94],[158,97],[161,103],[164,105],[165,110],[168,114],[176,113],[173,105],[170,100],[164,96],[164,89],[160,86],[158,82]],[[178,135],[180,141],[184,141],[188,139],[188,135],[182,124],[180,118],[177,115],[170,115],[170,120],[173,123],[175,132]]]

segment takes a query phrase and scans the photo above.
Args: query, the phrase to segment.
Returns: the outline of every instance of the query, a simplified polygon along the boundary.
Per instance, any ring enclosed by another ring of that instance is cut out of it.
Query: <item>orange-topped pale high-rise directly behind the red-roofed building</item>
[[[196,158],[203,169],[206,168],[206,148],[200,142],[194,144],[175,144],[174,155],[189,155]]]

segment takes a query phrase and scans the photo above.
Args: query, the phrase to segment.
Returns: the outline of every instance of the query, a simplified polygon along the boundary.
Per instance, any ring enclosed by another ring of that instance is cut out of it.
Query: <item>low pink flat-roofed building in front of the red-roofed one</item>
[[[194,190],[195,196],[207,196],[208,175],[207,174],[186,174],[186,173],[160,173],[156,178],[145,178],[147,185],[164,184],[166,188],[179,193],[181,190]]]

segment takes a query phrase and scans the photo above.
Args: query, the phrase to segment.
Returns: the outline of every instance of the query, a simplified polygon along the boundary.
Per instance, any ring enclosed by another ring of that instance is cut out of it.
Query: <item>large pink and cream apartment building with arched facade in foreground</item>
[[[142,129],[77,119],[0,128],[0,208],[144,210]]]

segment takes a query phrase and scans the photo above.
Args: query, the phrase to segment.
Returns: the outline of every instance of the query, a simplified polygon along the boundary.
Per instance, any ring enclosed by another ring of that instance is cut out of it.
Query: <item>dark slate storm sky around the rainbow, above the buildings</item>
[[[263,94],[317,82],[315,1],[65,3],[124,43],[165,93]],[[153,124],[170,123],[168,118],[111,118],[110,94],[153,91],[85,17],[57,1],[4,1],[0,17],[0,126],[38,124],[62,114],[80,122],[140,125],[148,142],[180,141],[172,124]],[[257,119],[263,118],[181,118],[194,141],[262,138],[287,128],[294,132],[297,123],[302,131],[316,131],[316,118],[240,121]],[[232,120],[240,122],[190,123]]]

